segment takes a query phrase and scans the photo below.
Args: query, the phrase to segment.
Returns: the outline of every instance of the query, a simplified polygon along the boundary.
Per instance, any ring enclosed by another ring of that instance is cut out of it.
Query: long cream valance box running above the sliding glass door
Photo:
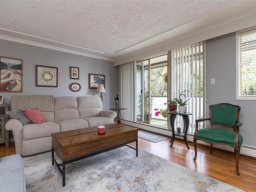
[[[115,57],[114,65],[122,65],[132,60],[145,59],[168,52],[171,49],[193,44],[198,41],[215,38],[231,32],[236,32],[256,25],[256,9],[244,11],[229,18],[225,18],[215,22],[214,24],[195,28],[186,33],[176,35],[157,44],[147,46],[146,48],[135,50],[124,56]],[[191,23],[199,23],[194,20]],[[187,25],[191,25],[190,23]],[[184,31],[185,25],[180,26],[174,31]],[[170,33],[170,32],[166,32]],[[174,32],[176,33],[176,32]],[[135,46],[134,46],[135,49]]]

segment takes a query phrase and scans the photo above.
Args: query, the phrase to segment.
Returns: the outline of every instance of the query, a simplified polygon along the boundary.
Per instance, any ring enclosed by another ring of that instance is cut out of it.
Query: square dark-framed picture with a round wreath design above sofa
[[[58,68],[36,66],[36,87],[58,87]]]

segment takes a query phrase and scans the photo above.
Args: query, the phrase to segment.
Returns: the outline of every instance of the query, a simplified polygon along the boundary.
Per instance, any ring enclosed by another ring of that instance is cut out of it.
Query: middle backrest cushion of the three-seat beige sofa
[[[76,97],[55,97],[54,122],[79,118]]]

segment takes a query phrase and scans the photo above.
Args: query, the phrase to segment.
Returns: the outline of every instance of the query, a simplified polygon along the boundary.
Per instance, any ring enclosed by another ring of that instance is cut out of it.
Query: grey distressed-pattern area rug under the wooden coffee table
[[[242,191],[127,146],[67,164],[65,187],[51,152],[23,160],[27,191]]]

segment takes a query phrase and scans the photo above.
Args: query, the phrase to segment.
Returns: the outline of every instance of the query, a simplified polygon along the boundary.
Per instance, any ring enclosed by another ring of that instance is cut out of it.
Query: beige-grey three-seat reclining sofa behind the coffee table
[[[6,129],[12,131],[16,154],[29,156],[51,150],[51,134],[114,122],[116,113],[102,111],[100,97],[53,97],[51,95],[14,95],[11,110],[24,107],[40,110],[47,122],[26,124],[10,119]]]

